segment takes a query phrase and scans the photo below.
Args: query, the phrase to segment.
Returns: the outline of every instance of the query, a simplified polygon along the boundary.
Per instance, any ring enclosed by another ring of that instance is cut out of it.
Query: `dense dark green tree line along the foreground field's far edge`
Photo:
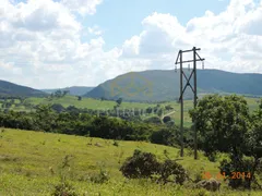
[[[57,112],[52,107],[38,106],[34,112],[12,110],[1,112],[0,126],[110,139],[147,140],[166,145],[175,145],[174,133],[178,134],[176,126],[170,127],[168,124],[155,124],[154,122],[146,123],[134,120],[135,117],[126,120],[106,114],[97,115],[94,110],[75,107],[68,107],[66,111]]]

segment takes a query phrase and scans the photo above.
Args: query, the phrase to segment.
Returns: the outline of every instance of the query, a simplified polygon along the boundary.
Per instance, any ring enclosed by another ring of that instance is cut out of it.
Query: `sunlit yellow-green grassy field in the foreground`
[[[126,180],[119,171],[121,163],[134,149],[154,152],[159,160],[164,160],[164,150],[171,159],[178,158],[177,148],[141,142],[119,142],[117,147],[112,145],[112,140],[100,138],[8,128],[0,131],[0,195],[3,196],[50,195],[59,183],[59,168],[66,156],[70,157],[68,180],[79,195],[249,195],[249,192],[230,191],[225,184],[218,193],[211,194],[186,185],[159,185],[146,180]],[[207,161],[202,154],[199,160],[193,160],[191,150],[186,150],[186,157],[179,162],[192,177],[201,168],[212,174],[218,172],[218,162]],[[109,172],[109,181],[104,184],[91,182],[88,176],[97,174],[100,167]]]

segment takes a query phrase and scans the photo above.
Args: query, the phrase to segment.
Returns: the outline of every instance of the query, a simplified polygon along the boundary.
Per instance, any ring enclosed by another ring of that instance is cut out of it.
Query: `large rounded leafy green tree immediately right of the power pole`
[[[238,154],[249,130],[249,108],[243,97],[206,96],[194,110],[189,111],[196,120],[199,146],[207,156],[224,151]]]

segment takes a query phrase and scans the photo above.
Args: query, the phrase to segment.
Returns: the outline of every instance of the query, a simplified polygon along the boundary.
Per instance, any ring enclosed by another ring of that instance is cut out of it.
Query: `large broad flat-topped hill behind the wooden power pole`
[[[189,72],[186,70],[186,73]],[[193,81],[191,81],[191,84]],[[186,81],[184,81],[186,83]],[[219,70],[198,70],[198,93],[262,95],[262,74],[238,74]],[[92,89],[85,97],[128,101],[176,100],[180,94],[180,74],[172,70],[131,72],[109,79]],[[192,98],[188,88],[186,99]]]

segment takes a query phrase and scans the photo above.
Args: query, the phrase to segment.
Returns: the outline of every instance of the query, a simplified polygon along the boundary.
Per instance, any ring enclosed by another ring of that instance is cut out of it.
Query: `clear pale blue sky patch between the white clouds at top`
[[[170,13],[182,25],[206,10],[215,14],[225,10],[229,0],[104,0],[95,15],[79,17],[85,26],[98,25],[105,30],[105,49],[120,46],[126,39],[142,30],[141,22],[147,15]]]

